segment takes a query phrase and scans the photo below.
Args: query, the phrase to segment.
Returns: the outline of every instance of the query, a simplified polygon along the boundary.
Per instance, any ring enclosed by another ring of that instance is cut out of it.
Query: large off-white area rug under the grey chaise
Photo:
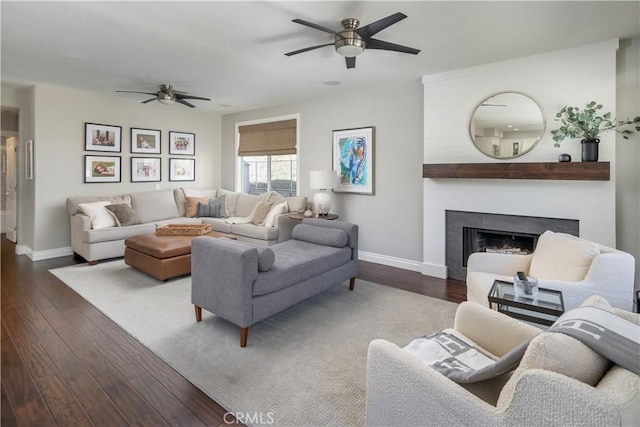
[[[278,426],[363,425],[369,342],[405,345],[453,325],[457,307],[345,282],[253,325],[242,349],[235,325],[204,310],[196,323],[189,277],[160,282],[121,260],[51,272],[227,410]]]

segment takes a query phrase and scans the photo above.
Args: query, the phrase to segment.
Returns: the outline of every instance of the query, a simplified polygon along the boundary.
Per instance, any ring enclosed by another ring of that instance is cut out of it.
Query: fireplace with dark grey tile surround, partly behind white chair
[[[578,236],[575,219],[503,215],[447,210],[446,265],[448,277],[465,280],[467,258],[473,252],[531,253],[546,230]]]

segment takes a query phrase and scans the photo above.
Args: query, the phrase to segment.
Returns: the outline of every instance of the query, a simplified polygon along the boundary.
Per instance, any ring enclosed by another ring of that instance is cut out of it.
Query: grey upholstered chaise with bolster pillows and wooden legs
[[[191,243],[191,302],[240,327],[246,347],[249,326],[350,280],[358,274],[358,226],[305,219],[291,240],[269,247],[220,238]]]

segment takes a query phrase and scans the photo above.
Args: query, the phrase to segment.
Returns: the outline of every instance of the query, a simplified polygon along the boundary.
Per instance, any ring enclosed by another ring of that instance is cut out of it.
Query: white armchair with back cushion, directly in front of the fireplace
[[[493,281],[513,281],[518,271],[538,279],[541,288],[562,292],[565,310],[591,295],[632,311],[633,256],[565,233],[545,231],[531,255],[476,252],[467,261],[467,301],[489,306]]]

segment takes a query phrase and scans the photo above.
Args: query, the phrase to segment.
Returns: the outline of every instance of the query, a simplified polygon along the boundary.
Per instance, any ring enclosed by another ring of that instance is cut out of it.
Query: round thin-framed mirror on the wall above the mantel
[[[494,159],[512,159],[536,146],[546,120],[542,107],[518,92],[501,92],[483,100],[469,120],[476,148]]]

